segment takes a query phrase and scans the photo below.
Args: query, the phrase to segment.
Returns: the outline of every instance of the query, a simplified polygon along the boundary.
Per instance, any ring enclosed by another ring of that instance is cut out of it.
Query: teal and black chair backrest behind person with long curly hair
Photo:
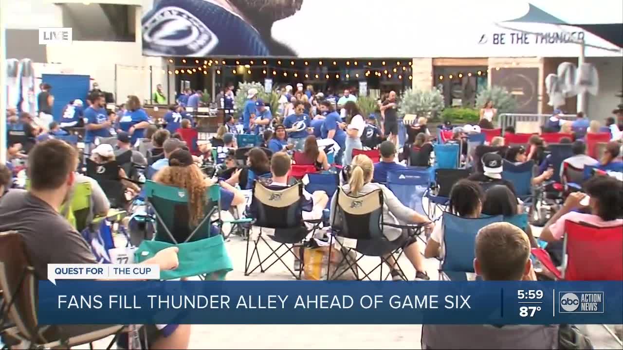
[[[214,188],[213,188],[214,187]],[[211,186],[206,190],[206,201],[204,202],[204,213],[211,214],[211,210],[217,206],[215,195],[212,191],[218,191],[218,186]],[[156,240],[169,243],[185,242],[189,235],[196,230],[196,233],[189,239],[189,242],[204,239],[209,236],[209,220],[203,222],[200,227],[191,226],[189,196],[185,189],[173,186],[158,184],[153,181],[145,182],[145,196],[151,204],[156,214],[162,220],[156,220]],[[200,220],[201,222],[201,220]],[[163,227],[166,226],[165,227]],[[173,235],[173,240],[167,234],[167,229]]]

